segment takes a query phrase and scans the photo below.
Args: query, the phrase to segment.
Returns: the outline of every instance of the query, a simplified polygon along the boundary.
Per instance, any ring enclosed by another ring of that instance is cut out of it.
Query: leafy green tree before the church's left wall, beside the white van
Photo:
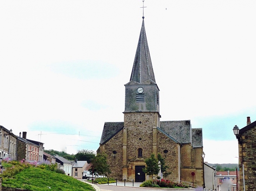
[[[92,159],[91,164],[93,165],[94,172],[100,172],[101,174],[111,173],[107,163],[106,153],[97,154],[95,158]],[[92,167],[90,170],[92,170]]]

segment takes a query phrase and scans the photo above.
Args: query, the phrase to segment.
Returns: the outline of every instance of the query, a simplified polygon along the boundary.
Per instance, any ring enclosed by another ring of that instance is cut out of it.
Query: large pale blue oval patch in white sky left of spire
[[[72,60],[48,66],[51,71],[64,74],[70,78],[82,80],[102,80],[113,78],[119,70],[112,64],[100,60]]]

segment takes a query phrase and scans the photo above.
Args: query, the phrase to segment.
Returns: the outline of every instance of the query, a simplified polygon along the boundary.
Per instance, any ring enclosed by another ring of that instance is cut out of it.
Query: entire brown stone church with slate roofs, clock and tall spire
[[[160,121],[159,88],[142,19],[132,74],[124,85],[124,121],[105,123],[97,153],[107,154],[111,177],[119,180],[149,179],[142,171],[146,166],[144,160],[160,153],[170,172],[164,178],[194,180],[194,185],[202,186],[202,128],[191,128],[190,120]]]

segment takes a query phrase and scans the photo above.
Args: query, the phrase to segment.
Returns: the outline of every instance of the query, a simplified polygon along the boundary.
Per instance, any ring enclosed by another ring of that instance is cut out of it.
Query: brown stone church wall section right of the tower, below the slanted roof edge
[[[168,153],[164,153],[164,150],[168,150]],[[166,165],[169,167],[167,172],[171,172],[164,178],[171,181],[180,179],[178,177],[178,144],[159,131],[157,131],[157,153],[160,153],[165,159]]]

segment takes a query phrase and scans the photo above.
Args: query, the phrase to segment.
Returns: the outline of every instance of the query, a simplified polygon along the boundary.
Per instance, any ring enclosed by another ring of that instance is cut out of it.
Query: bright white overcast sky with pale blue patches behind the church
[[[210,163],[238,161],[234,125],[256,120],[256,1],[145,0],[161,120],[203,129]],[[45,149],[99,147],[122,122],[142,1],[0,1],[0,125]],[[80,140],[80,141],[79,141]]]

